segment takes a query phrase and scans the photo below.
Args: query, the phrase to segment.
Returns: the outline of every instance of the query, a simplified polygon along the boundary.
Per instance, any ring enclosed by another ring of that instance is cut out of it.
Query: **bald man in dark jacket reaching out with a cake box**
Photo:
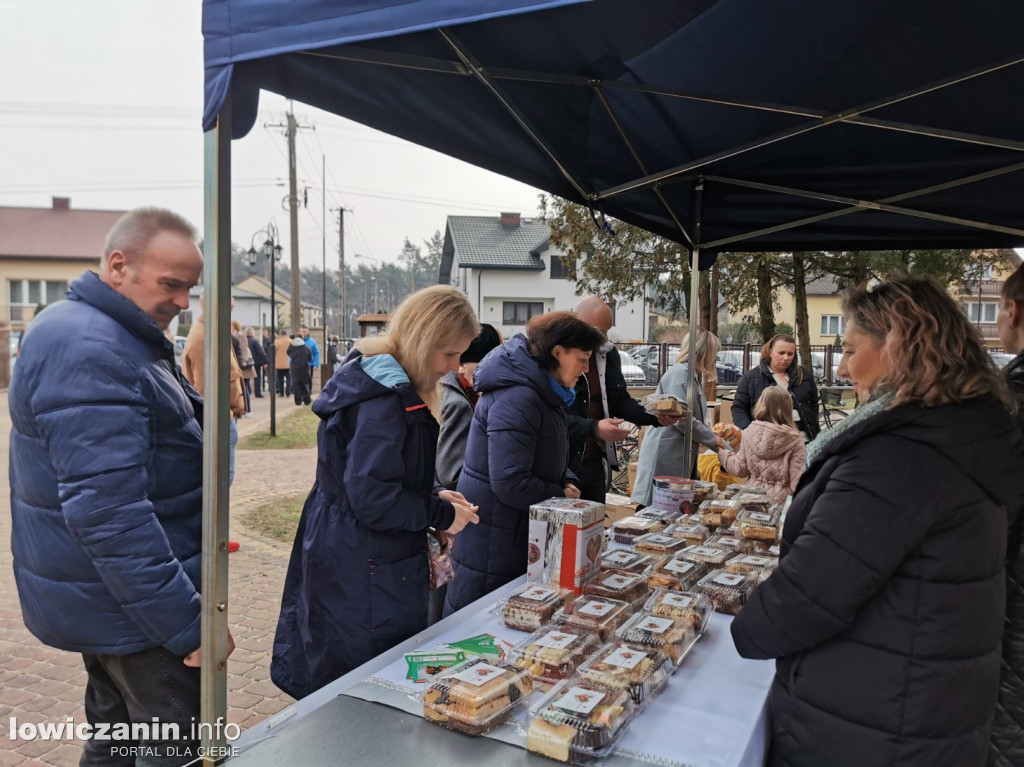
[[[575,307],[575,315],[590,323],[605,337],[611,330],[611,308],[597,296],[588,296]],[[587,374],[575,386],[577,398],[566,416],[569,431],[569,468],[580,477],[581,497],[604,503],[607,492],[606,468],[618,468],[614,443],[629,436],[622,426],[671,426],[679,419],[656,418],[630,396],[623,378],[618,349],[606,342],[590,360]]]

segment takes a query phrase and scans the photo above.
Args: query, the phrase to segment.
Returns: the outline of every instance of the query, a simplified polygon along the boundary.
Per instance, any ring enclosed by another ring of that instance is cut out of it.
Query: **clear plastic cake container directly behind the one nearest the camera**
[[[673,670],[672,661],[656,647],[608,642],[580,667],[580,676],[610,690],[625,690],[639,713],[665,689]]]

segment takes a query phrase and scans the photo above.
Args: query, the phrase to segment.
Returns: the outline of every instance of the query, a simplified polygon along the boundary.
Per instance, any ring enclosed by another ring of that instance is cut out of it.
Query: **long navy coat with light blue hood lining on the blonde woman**
[[[353,351],[313,402],[316,483],[285,579],[270,677],[304,697],[427,628],[437,422],[388,354]]]

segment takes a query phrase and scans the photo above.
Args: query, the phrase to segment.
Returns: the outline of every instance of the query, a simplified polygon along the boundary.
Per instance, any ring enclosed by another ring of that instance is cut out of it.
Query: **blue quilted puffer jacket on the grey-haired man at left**
[[[9,402],[11,548],[42,642],[200,645],[202,399],[171,342],[91,271],[26,334]]]

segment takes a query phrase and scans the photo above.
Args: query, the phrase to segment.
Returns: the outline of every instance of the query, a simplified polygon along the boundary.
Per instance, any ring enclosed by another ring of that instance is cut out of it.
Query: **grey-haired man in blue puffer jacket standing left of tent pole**
[[[202,272],[196,238],[169,211],[123,216],[99,273],[33,323],[10,387],[26,626],[82,653],[90,723],[177,725],[173,743],[156,731],[116,743],[191,749],[168,765],[195,759],[200,715],[203,403],[163,332]],[[110,742],[89,739],[81,764],[111,759]]]

